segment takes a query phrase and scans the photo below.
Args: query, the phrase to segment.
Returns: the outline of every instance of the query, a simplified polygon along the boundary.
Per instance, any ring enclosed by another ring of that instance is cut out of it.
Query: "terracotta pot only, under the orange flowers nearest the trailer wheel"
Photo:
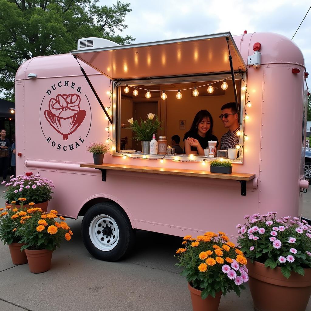
[[[50,269],[53,251],[48,249],[30,250],[26,248],[25,253],[31,273],[42,273]]]

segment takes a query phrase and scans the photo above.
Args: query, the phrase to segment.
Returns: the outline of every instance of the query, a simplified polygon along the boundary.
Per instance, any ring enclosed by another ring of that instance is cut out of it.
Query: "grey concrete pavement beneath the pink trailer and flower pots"
[[[186,279],[174,266],[179,237],[137,231],[131,257],[104,262],[84,247],[81,220],[67,221],[74,232],[72,240],[53,252],[51,269],[42,274],[30,273],[27,264],[13,265],[7,245],[0,244],[0,311],[192,310]],[[219,311],[238,310],[253,310],[248,289],[240,298],[234,293],[221,298]]]

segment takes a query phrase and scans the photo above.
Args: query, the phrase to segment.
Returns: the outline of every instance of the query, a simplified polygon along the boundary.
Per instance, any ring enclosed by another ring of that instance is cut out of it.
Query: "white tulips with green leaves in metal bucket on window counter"
[[[141,118],[139,123],[138,120],[130,118],[128,119],[128,123],[130,123],[128,128],[130,128],[135,134],[132,139],[135,139],[137,142],[142,142],[142,153],[150,153],[152,134],[161,129],[162,122],[159,121],[158,116],[149,113],[147,114],[146,121],[143,121]]]

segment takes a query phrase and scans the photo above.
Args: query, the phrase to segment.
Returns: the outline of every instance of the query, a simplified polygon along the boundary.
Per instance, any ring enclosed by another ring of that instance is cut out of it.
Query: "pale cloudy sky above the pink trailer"
[[[117,0],[100,0],[112,5]],[[132,12],[126,17],[123,34],[135,43],[207,35],[230,31],[232,35],[276,32],[292,38],[311,6],[310,0],[123,0]],[[311,9],[293,41],[304,54],[311,74]]]

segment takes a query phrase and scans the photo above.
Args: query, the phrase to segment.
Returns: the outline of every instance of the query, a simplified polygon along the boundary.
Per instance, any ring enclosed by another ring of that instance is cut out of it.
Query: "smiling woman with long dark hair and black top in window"
[[[213,118],[207,110],[200,110],[195,115],[190,130],[183,137],[185,154],[204,156],[208,141],[216,141],[217,150],[218,139],[213,135]]]

